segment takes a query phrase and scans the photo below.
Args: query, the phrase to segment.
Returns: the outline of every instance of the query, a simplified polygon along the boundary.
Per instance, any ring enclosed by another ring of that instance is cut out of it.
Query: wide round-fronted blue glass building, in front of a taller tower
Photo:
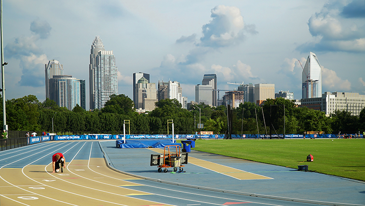
[[[72,110],[76,104],[85,108],[85,80],[73,78],[71,75],[54,75],[50,79],[51,100],[60,107]]]

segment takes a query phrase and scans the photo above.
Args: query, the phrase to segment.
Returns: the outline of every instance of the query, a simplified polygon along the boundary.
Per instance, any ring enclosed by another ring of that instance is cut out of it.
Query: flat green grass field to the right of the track
[[[193,149],[296,169],[307,164],[311,171],[365,181],[365,139],[197,139]]]

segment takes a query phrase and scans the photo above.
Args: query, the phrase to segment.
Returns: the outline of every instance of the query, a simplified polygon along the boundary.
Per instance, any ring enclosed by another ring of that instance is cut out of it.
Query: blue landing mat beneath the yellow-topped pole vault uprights
[[[127,139],[125,143],[123,140],[117,140],[115,146],[118,148],[164,148],[169,145],[178,145],[181,147],[181,143],[176,143],[176,140],[172,142],[171,139]]]

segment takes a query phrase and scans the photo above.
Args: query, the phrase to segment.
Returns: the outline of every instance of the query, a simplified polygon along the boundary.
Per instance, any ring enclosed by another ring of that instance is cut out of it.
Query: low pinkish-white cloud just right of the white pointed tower
[[[342,80],[337,76],[335,71],[323,67],[322,86],[324,86],[329,91],[349,91],[351,89],[351,82],[349,82],[347,79]]]

